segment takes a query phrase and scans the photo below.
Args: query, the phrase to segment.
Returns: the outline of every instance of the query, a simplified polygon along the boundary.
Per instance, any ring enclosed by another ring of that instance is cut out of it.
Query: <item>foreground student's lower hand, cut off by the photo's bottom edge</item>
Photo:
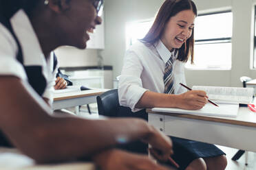
[[[102,170],[168,170],[157,165],[147,155],[132,154],[119,149],[109,149],[94,156],[94,161]]]

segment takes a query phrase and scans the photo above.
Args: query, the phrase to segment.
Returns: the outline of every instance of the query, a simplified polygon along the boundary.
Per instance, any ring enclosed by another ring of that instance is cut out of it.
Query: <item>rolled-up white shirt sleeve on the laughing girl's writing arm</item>
[[[131,108],[131,111],[136,112],[136,104],[147,91],[142,88],[142,80],[140,75],[143,71],[143,65],[135,51],[128,50],[125,53],[124,66],[118,84],[118,97],[121,106]]]

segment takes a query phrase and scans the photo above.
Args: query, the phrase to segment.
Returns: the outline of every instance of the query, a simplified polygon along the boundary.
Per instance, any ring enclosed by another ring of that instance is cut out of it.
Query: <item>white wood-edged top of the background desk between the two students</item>
[[[79,90],[79,91],[72,91],[72,92],[67,92],[67,93],[56,93],[56,94],[54,94],[54,101],[100,95],[100,94],[106,92],[107,90],[109,90],[109,89],[98,88],[98,89],[93,89],[93,90],[81,90],[81,91]]]

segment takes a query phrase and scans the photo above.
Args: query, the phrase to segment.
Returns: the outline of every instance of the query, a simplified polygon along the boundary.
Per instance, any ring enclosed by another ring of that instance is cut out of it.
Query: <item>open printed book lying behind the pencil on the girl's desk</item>
[[[193,86],[192,89],[206,91],[209,99],[217,104],[250,104],[253,101],[253,88]]]

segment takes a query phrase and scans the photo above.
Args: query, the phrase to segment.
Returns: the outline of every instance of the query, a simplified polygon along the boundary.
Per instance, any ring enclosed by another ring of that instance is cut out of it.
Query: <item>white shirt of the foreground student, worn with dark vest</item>
[[[12,16],[10,23],[17,36],[23,52],[25,66],[42,66],[42,72],[47,82],[43,97],[52,101],[54,87],[53,58],[45,60],[45,56],[36,37],[28,16],[19,10]],[[18,45],[9,30],[0,23],[0,75],[13,75],[28,82],[28,77],[22,64],[17,60]],[[51,68],[52,66],[52,68]]]

